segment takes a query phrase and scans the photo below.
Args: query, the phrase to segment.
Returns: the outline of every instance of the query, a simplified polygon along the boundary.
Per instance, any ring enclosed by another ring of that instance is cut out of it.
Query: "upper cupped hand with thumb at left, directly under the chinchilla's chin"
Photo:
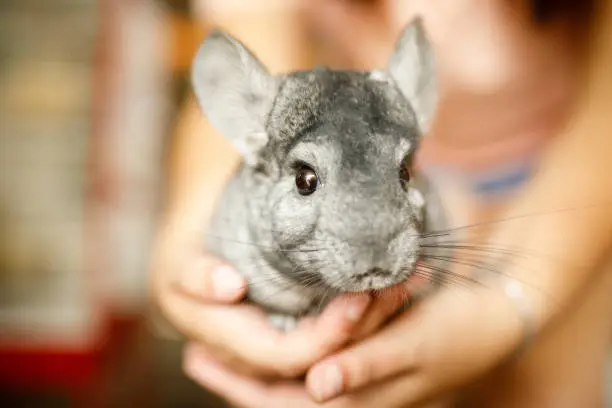
[[[278,378],[303,375],[350,341],[375,331],[403,303],[406,288],[386,296],[341,295],[287,333],[256,306],[242,303],[246,282],[197,245],[163,247],[153,287],[170,323],[232,370]],[[391,299],[384,302],[384,299]]]

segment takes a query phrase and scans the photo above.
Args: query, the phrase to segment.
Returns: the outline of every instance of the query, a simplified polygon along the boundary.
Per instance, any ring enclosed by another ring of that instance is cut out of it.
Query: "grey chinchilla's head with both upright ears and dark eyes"
[[[217,30],[198,51],[192,79],[208,120],[244,157],[249,228],[268,258],[304,284],[337,291],[381,289],[410,275],[424,223],[412,161],[437,99],[420,18],[373,72],[272,75]]]

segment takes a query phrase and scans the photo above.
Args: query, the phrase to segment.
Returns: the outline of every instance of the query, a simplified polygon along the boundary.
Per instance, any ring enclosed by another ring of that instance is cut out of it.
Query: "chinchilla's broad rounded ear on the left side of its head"
[[[193,62],[196,98],[210,123],[255,164],[268,142],[266,115],[276,94],[276,79],[242,43],[214,29]]]

